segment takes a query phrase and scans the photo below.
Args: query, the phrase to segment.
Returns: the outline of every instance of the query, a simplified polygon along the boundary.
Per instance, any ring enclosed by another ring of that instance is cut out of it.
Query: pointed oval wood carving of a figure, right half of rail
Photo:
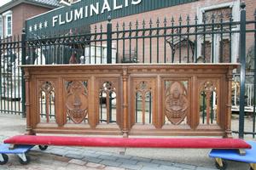
[[[173,82],[166,89],[166,116],[175,125],[183,122],[187,116],[189,101],[187,90],[181,82]]]

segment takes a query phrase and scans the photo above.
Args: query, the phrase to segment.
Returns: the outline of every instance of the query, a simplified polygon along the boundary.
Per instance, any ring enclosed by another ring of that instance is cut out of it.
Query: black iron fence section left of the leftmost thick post
[[[22,107],[21,39],[9,37],[0,43],[0,111],[14,114],[24,112]]]

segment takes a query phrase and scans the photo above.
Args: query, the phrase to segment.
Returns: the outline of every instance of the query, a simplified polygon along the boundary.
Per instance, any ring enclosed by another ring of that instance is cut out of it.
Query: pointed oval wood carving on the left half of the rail
[[[67,83],[67,114],[75,123],[84,121],[88,114],[88,92],[86,83],[74,81]]]

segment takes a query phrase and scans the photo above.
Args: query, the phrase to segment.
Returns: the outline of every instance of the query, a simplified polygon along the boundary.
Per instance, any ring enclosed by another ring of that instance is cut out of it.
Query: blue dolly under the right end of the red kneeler
[[[209,156],[215,158],[215,165],[218,169],[224,170],[227,168],[227,162],[230,161],[242,161],[249,163],[252,170],[256,170],[256,142],[247,141],[247,144],[252,145],[251,150],[245,150],[246,154],[241,156],[237,150],[216,150],[213,149]]]

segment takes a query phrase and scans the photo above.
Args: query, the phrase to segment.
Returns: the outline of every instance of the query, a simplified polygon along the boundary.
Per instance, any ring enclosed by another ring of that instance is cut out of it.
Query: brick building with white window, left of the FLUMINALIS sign
[[[57,0],[12,0],[0,7],[0,37],[20,35],[25,20],[60,7]]]

